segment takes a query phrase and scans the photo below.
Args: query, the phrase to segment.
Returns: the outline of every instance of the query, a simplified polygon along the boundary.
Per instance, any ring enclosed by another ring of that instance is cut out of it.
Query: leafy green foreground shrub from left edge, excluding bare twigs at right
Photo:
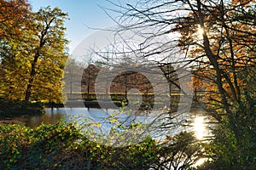
[[[143,169],[148,160],[154,160],[147,153],[154,145],[151,139],[137,146],[111,148],[84,138],[72,124],[34,129],[0,124],[0,131],[1,169],[122,169],[124,162],[125,168]]]

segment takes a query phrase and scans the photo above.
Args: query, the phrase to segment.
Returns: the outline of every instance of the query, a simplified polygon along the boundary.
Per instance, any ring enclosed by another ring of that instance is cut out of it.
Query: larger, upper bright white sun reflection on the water
[[[195,131],[195,136],[197,139],[203,139],[204,136],[206,135],[206,125],[204,122],[204,117],[203,116],[196,116],[195,121],[193,123],[194,131]]]

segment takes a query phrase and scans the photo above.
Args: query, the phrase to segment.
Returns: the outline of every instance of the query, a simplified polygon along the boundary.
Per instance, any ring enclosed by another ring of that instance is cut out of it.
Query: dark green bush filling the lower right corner
[[[256,169],[256,108],[236,111],[231,121],[213,131],[207,147],[209,162],[202,169]]]

